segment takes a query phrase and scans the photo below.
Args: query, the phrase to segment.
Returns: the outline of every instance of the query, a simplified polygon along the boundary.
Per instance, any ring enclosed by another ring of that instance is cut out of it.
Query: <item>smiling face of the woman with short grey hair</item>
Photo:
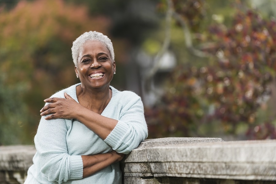
[[[79,53],[76,75],[84,88],[109,88],[116,71],[108,49],[99,41],[86,41]]]

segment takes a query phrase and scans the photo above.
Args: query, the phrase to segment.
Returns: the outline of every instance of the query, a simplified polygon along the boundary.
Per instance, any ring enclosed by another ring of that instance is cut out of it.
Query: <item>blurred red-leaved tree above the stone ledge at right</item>
[[[236,2],[232,25],[212,16],[216,21],[209,32],[195,41],[190,30],[200,30],[205,1],[172,2],[171,16],[184,30],[186,49],[205,59],[179,64],[171,73],[161,100],[146,111],[150,137],[242,133],[243,139],[276,138],[275,115],[268,122],[256,118],[275,78],[275,21]],[[194,43],[204,44],[196,49]]]

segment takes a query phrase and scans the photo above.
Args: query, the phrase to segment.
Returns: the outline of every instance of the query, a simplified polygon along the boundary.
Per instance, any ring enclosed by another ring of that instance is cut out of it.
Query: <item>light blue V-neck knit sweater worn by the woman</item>
[[[64,92],[77,102],[76,86],[61,90],[52,97],[64,98]],[[119,184],[122,180],[119,163],[82,178],[81,155],[94,155],[115,150],[127,154],[148,136],[141,98],[131,91],[118,91],[112,86],[112,98],[102,115],[118,120],[105,140],[73,119],[41,118],[34,138],[36,154],[28,170],[27,184],[78,183]]]

